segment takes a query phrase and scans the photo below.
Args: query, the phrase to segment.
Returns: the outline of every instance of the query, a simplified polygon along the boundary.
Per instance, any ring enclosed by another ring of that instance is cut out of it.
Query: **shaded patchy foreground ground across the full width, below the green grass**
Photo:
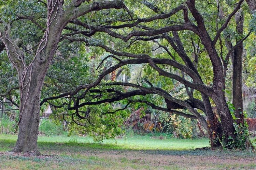
[[[10,164],[10,162],[16,162],[16,164]],[[27,166],[20,166],[21,164]],[[39,167],[37,168],[36,165]],[[47,151],[46,155],[40,156],[13,152],[0,153],[0,168],[3,169],[62,169],[64,167],[68,169],[255,169],[256,157],[249,152],[211,150],[85,149],[72,152],[68,149],[61,152]]]

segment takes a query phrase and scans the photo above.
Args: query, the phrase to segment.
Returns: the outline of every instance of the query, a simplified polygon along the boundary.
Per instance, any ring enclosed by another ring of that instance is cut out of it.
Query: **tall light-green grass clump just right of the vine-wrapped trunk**
[[[61,124],[57,125],[50,119],[43,119],[39,125],[39,134],[46,136],[63,135],[65,134],[65,131]]]

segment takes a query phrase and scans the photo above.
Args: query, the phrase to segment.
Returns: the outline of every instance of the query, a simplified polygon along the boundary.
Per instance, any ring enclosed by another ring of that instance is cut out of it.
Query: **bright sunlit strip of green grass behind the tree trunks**
[[[0,140],[8,140],[15,142],[17,135],[0,135]],[[202,148],[209,146],[208,139],[158,139],[150,138],[149,136],[133,137],[124,136],[121,139],[108,139],[103,142],[94,142],[91,137],[78,136],[39,136],[38,143],[90,143],[100,144],[100,146],[115,146],[114,148],[128,149],[128,150],[190,150],[195,148]]]

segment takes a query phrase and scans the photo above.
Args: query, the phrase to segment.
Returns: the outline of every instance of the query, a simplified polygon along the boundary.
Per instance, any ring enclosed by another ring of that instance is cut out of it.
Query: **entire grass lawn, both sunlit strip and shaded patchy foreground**
[[[16,135],[0,135],[0,169],[255,169],[256,154],[194,150],[208,139],[149,136],[93,142],[90,137],[39,136],[42,156],[10,154]]]

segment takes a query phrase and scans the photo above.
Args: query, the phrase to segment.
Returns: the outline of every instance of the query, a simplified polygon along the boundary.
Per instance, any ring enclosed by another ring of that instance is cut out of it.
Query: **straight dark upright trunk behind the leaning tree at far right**
[[[235,16],[236,19],[236,30],[239,34],[243,34],[243,22],[244,15],[242,10],[239,10]],[[241,39],[241,38],[240,38]],[[237,43],[240,41],[237,38]],[[237,123],[244,123],[244,114],[243,114],[243,89],[242,89],[242,69],[243,69],[243,43],[234,49],[233,55],[233,105],[236,108],[235,114]]]

